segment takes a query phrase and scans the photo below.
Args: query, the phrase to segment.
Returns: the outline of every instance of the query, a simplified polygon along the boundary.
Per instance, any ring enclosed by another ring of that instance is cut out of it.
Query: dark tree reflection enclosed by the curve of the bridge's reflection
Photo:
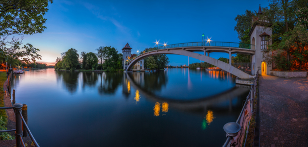
[[[161,91],[168,83],[168,76],[164,71],[154,73],[128,73],[128,76],[134,80],[133,82],[139,85],[143,91],[151,94],[156,91]]]

